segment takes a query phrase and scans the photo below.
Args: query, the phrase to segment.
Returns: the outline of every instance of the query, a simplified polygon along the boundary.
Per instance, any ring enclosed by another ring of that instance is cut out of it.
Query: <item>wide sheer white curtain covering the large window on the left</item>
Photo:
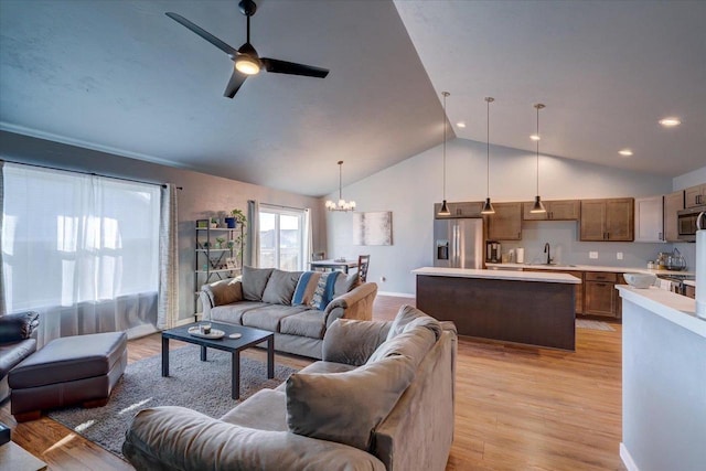
[[[8,312],[40,312],[40,343],[157,321],[159,186],[6,163]]]

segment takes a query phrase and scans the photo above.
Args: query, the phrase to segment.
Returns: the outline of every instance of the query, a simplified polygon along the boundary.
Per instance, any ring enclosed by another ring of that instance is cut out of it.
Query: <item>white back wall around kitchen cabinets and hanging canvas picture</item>
[[[454,139],[447,143],[447,200],[480,201],[485,197],[485,143]],[[327,214],[330,257],[371,254],[368,280],[379,290],[413,295],[410,270],[432,263],[434,203],[442,199],[441,146],[429,149],[365,180],[343,189],[357,211],[392,211],[392,246],[353,246],[350,213]],[[536,154],[491,146],[490,195],[492,201],[531,201],[536,194]],[[541,156],[539,193],[543,200],[650,196],[670,193],[672,179],[586,162]],[[338,199],[338,192],[328,199]],[[322,199],[322,205],[323,205]],[[523,240],[525,259],[541,255],[545,242],[556,247],[557,261],[581,265],[646,267],[671,244],[579,243],[577,223],[528,223]],[[506,244],[507,248],[512,244]],[[599,259],[588,258],[598,250]],[[617,260],[617,251],[623,260]],[[386,281],[381,281],[382,278]]]

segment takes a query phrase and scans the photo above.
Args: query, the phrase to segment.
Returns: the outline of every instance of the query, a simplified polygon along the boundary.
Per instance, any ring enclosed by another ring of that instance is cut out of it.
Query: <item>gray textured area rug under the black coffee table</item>
[[[201,362],[200,347],[188,345],[170,352],[169,377],[162,377],[161,355],[129,364],[105,407],[69,407],[49,417],[122,458],[125,431],[138,410],[157,406],[182,406],[218,418],[239,402],[263,388],[275,388],[292,370],[275,365],[267,378],[267,365],[240,356],[240,399],[231,398],[231,354],[208,350]]]

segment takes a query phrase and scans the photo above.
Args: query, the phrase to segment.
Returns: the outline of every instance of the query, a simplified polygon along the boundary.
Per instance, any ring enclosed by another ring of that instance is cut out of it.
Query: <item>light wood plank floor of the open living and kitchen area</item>
[[[374,318],[393,319],[403,303],[414,304],[414,299],[379,296]],[[624,470],[619,457],[621,325],[611,325],[614,332],[577,329],[575,353],[459,339],[456,431],[447,471]],[[160,349],[159,334],[130,341],[129,362]],[[261,351],[244,354],[265,361]],[[298,368],[310,363],[279,354],[276,361]],[[7,403],[0,421],[50,470],[132,469],[46,417],[15,424]]]

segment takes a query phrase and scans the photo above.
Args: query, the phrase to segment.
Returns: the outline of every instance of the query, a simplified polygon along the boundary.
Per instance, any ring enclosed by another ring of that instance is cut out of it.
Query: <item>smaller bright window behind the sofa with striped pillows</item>
[[[260,267],[304,270],[306,212],[260,204]]]

